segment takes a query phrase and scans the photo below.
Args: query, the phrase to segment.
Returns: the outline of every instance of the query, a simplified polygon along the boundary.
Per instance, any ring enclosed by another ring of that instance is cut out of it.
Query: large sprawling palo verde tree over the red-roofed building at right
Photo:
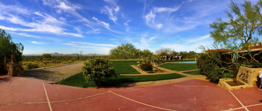
[[[210,36],[214,38],[214,48],[231,52],[231,49],[237,46],[239,49],[238,66],[250,68],[261,66],[259,61],[262,59],[262,50],[252,51],[251,47],[261,42],[262,0],[255,3],[244,1],[241,5],[231,1],[228,6],[230,9],[225,11],[227,17],[224,20],[217,18],[209,24],[212,29]],[[200,47],[205,50],[203,46]],[[225,62],[221,60],[221,57],[207,54],[221,64],[221,69],[230,70],[232,68],[232,62]],[[231,56],[231,53],[227,54],[228,57]]]

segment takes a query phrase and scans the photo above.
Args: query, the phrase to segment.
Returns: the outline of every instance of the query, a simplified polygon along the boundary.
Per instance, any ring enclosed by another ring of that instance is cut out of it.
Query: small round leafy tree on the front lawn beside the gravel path
[[[108,77],[117,77],[111,64],[108,59],[93,56],[87,62],[84,62],[82,66],[83,75],[86,80],[94,81],[96,85],[100,85]]]

